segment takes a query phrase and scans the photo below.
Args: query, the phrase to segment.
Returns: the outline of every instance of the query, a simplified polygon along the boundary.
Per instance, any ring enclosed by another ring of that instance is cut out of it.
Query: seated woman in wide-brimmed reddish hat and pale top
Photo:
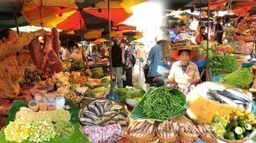
[[[190,62],[196,52],[181,48],[172,52],[172,57],[179,60],[172,64],[168,82],[172,83],[172,87],[178,88],[186,95],[192,90],[193,86],[200,81],[197,65]]]

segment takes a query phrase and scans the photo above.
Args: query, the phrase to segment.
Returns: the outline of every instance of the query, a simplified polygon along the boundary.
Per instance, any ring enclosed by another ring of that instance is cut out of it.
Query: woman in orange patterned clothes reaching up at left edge
[[[18,33],[5,29],[0,32],[0,123],[8,116],[9,101],[18,96],[18,81],[23,76],[27,67],[28,52],[23,50],[34,38],[44,36],[44,30],[36,32]]]

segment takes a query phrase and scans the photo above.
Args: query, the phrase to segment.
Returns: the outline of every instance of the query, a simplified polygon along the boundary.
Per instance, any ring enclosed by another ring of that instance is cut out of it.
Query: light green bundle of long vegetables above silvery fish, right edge
[[[248,69],[238,70],[220,79],[220,81],[229,86],[246,89],[253,82],[253,73],[249,72]]]

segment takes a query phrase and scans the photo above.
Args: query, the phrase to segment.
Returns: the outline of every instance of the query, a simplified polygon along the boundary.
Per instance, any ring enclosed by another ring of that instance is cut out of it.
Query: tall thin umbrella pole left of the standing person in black
[[[111,54],[111,17],[110,17],[110,0],[108,0],[108,17],[109,17],[109,51],[110,51],[110,96],[113,94],[112,82],[112,54]]]

